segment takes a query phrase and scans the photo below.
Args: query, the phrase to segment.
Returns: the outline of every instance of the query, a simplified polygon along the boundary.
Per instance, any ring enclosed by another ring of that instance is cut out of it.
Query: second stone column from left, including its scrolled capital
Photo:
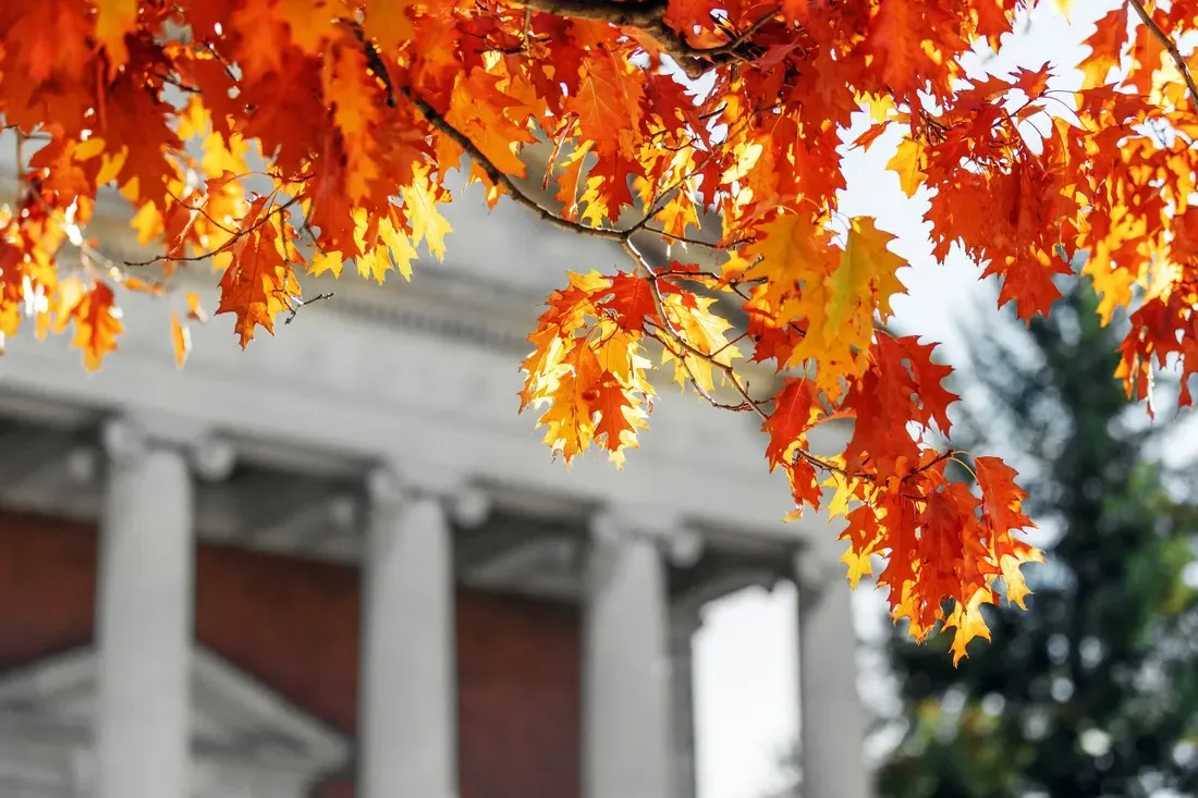
[[[363,798],[458,794],[450,518],[479,524],[478,491],[379,468],[363,552],[358,790]]]

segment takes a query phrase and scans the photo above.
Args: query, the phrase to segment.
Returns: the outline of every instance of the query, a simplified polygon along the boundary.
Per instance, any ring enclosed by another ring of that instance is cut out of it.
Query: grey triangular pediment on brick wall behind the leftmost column
[[[97,658],[79,648],[0,677],[0,725],[50,744],[90,742]],[[192,744],[198,756],[307,772],[343,764],[349,743],[213,652],[192,657]]]

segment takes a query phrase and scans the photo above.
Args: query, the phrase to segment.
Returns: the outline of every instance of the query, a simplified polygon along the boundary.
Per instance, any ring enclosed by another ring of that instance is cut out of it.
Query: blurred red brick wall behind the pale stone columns
[[[91,525],[0,510],[0,669],[91,641],[96,562]],[[204,544],[196,584],[205,646],[353,733],[356,568]],[[458,591],[461,798],[579,794],[579,672],[573,606]]]

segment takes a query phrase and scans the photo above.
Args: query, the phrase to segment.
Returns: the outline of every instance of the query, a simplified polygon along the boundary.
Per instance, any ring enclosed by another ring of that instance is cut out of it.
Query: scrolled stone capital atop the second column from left
[[[491,512],[490,492],[470,474],[432,464],[381,463],[367,473],[365,484],[370,501],[389,512],[417,498],[435,498],[454,522],[468,528],[482,526]]]

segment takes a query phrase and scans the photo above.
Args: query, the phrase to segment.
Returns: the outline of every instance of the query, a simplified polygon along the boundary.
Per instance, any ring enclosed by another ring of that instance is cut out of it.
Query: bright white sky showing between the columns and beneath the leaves
[[[1004,73],[1045,61],[1072,66],[1085,53],[1081,42],[1093,32],[1094,20],[1114,5],[1115,0],[1075,2],[1066,22],[1045,2],[1029,24],[1004,41],[986,68]],[[1058,83],[1076,86],[1077,79],[1066,75]],[[944,343],[944,353],[955,357],[962,312],[973,314],[961,300],[975,291],[980,270],[960,255],[950,255],[943,266],[932,260],[921,222],[926,202],[919,195],[908,200],[897,179],[884,173],[890,155],[879,140],[867,156],[855,151],[846,159],[848,191],[841,210],[848,216],[872,214],[879,228],[898,236],[893,248],[913,268],[900,273],[909,295],[895,298],[896,321],[904,332]],[[998,319],[997,308],[992,314],[969,321],[985,325]],[[881,594],[863,582],[855,598],[863,616],[858,625],[877,628]],[[773,593],[746,590],[707,607],[695,639],[700,798],[762,798],[785,784],[780,761],[798,730],[794,607],[789,586]]]

